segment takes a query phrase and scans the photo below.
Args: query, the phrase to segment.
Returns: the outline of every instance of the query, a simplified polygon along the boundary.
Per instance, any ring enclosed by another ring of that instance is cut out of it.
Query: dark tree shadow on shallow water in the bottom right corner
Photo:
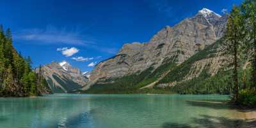
[[[208,115],[200,115],[200,118],[193,118],[193,124],[177,124],[166,122],[163,128],[255,128],[256,120],[239,120],[225,117],[212,117]]]

